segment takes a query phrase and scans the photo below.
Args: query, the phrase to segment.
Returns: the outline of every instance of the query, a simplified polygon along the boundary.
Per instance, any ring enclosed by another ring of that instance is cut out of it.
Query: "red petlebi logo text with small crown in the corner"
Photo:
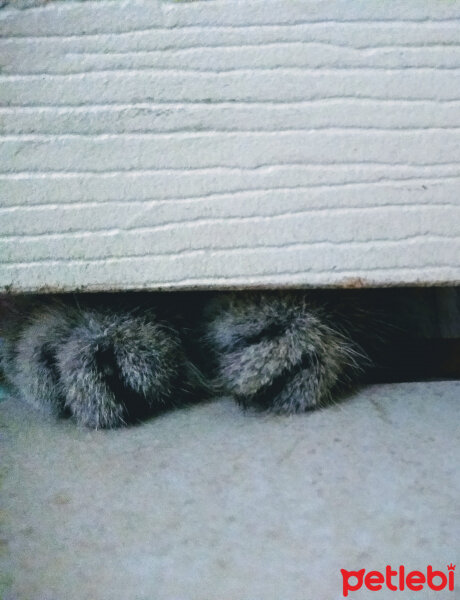
[[[424,589],[424,586],[440,592],[447,589],[453,591],[455,565],[450,563],[447,565],[447,574],[443,571],[433,571],[433,567],[428,565],[426,573],[422,571],[409,571],[406,574],[406,569],[400,565],[397,571],[394,571],[391,565],[387,565],[385,573],[380,571],[368,571],[360,569],[359,571],[346,571],[340,569],[343,580],[343,595],[345,598],[349,592],[356,592],[363,586],[372,592],[378,592],[384,586],[393,592],[403,591],[405,589],[413,592],[418,592]]]

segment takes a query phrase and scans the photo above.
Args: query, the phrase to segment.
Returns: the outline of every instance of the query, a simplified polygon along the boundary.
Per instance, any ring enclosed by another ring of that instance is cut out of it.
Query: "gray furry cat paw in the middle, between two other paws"
[[[59,348],[57,367],[65,406],[96,429],[173,406],[186,379],[177,334],[151,311],[82,311]]]

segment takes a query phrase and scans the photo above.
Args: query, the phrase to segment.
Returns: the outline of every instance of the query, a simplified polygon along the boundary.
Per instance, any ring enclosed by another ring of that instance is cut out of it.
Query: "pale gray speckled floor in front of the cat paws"
[[[372,386],[296,417],[221,399],[108,432],[6,399],[3,599],[336,600],[341,568],[446,571],[459,398],[460,382]]]

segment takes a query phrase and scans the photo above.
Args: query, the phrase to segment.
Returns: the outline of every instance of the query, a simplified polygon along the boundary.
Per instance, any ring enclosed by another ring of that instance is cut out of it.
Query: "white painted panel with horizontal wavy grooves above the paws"
[[[0,10],[0,286],[460,282],[460,3]]]

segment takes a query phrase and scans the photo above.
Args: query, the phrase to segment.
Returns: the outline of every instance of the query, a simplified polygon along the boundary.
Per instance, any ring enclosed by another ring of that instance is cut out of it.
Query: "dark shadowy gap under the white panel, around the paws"
[[[234,293],[245,292],[247,290]],[[85,293],[57,297],[73,296],[76,303],[83,300],[95,305],[102,299],[105,304],[120,309],[133,305],[146,307],[154,300],[166,306],[171,315],[179,315],[176,325],[180,328],[182,324],[188,327],[198,320],[209,297],[221,293],[228,292]],[[276,294],[277,291],[265,293]],[[375,308],[394,317],[398,324],[396,334],[389,335],[385,341],[375,361],[378,366],[369,370],[364,378],[366,382],[460,378],[460,287],[299,290],[298,293],[311,296],[319,306],[323,301],[327,304],[332,300],[335,304],[343,299],[345,304],[362,305],[365,310]],[[29,298],[33,296],[0,296],[0,321],[2,313],[4,316],[8,312],[10,301],[28,303]],[[370,329],[366,337],[369,340],[372,336]]]

